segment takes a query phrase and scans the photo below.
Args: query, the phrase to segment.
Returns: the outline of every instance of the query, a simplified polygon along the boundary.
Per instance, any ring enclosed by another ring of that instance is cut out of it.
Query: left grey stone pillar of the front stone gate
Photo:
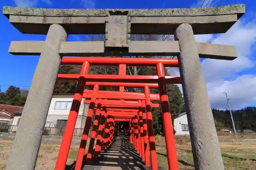
[[[67,41],[65,29],[58,24],[51,25],[33,76],[6,170],[35,169],[61,62],[61,41]]]

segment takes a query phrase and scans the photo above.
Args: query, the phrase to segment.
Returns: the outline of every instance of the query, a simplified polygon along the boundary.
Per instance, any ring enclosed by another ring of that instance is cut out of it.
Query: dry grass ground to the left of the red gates
[[[8,154],[11,150],[12,141],[0,140],[0,170],[5,169]],[[71,145],[68,161],[70,165],[76,160],[79,145]],[[35,170],[54,170],[56,159],[59,153],[60,145],[42,144],[39,150],[37,165]]]

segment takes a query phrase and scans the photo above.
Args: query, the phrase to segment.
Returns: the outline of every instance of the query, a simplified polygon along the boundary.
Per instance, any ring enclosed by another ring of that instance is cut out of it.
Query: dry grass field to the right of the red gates
[[[244,136],[245,137],[245,136]],[[232,138],[232,137],[228,137]],[[252,138],[252,135],[249,136]],[[255,138],[255,136],[254,136]],[[168,169],[164,138],[157,136],[158,163]],[[256,143],[221,142],[222,158],[225,170],[255,170],[256,169]],[[176,138],[176,149],[179,167],[182,170],[193,170],[193,156],[189,137]]]

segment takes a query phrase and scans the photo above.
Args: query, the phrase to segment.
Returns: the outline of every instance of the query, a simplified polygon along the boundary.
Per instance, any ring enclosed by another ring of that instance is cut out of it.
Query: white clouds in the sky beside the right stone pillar
[[[233,61],[205,59],[202,62],[204,77],[207,83],[208,95],[211,106],[215,108],[227,108],[225,95],[229,92],[229,98],[233,109],[246,107],[246,104],[256,102],[256,75],[243,74],[248,68],[255,67],[255,61],[251,55],[256,43],[256,22],[255,20],[245,23],[238,22],[226,33],[213,35],[195,36],[197,41],[214,44],[226,44],[236,46],[238,58]],[[239,74],[238,74],[239,73]],[[226,79],[230,79],[226,81]],[[248,97],[249,96],[249,97]]]

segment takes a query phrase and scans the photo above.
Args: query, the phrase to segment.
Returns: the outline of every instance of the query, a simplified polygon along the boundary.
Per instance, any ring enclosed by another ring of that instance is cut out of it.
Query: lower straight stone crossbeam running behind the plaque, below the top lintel
[[[234,60],[236,47],[221,44],[196,43],[200,58]],[[14,55],[40,55],[44,41],[12,41],[9,53]],[[129,50],[107,52],[104,41],[62,42],[61,56],[176,56],[180,54],[178,41],[131,41]]]

